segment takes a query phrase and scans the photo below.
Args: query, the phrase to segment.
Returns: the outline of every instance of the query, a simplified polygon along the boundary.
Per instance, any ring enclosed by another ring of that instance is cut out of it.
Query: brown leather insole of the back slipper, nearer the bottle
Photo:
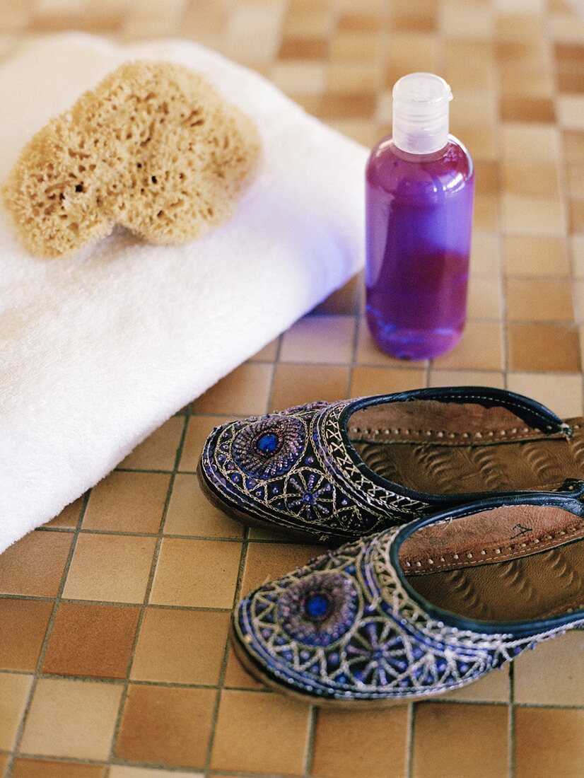
[[[369,468],[416,492],[554,491],[584,478],[584,419],[567,424],[571,436],[505,408],[426,400],[364,408],[348,433]]]

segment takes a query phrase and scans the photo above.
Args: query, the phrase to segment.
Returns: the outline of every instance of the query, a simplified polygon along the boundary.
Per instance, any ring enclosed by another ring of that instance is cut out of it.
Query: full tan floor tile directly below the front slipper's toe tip
[[[309,706],[281,695],[223,691],[212,769],[302,775],[309,713]]]

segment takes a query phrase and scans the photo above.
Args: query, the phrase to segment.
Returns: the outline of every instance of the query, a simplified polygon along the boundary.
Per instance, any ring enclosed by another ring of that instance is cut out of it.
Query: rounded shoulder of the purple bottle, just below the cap
[[[467,149],[453,135],[449,135],[445,149],[423,156],[401,152],[391,138],[383,138],[369,155],[365,177],[370,188],[388,195],[427,196],[467,186],[474,178],[474,165]]]

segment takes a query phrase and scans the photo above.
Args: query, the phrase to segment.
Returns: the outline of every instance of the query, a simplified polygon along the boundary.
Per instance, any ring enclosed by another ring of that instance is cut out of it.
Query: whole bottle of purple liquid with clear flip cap
[[[448,134],[450,87],[412,73],[393,87],[393,135],[366,168],[367,321],[377,345],[429,359],[466,321],[474,168]]]

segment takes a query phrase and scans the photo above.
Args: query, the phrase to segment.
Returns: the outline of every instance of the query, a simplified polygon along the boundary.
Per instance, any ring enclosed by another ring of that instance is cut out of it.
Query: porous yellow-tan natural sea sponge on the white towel
[[[203,76],[130,62],[33,136],[2,201],[41,257],[71,256],[116,224],[180,244],[232,214],[259,152],[254,123]]]

